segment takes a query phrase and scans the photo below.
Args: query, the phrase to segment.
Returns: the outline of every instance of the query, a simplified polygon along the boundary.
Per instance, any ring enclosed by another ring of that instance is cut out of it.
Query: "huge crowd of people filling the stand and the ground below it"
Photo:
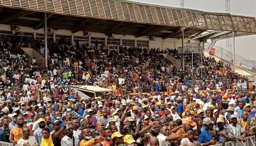
[[[45,45],[26,43],[37,49]],[[0,48],[0,141],[19,146],[209,146],[245,142],[255,134],[255,82],[225,62],[187,55],[182,70],[167,64],[159,49],[121,46],[119,54],[107,55],[98,45],[78,42],[73,47],[52,40],[46,68],[18,46],[4,42]],[[178,56],[176,49],[164,53]],[[72,85],[112,91],[85,98]]]

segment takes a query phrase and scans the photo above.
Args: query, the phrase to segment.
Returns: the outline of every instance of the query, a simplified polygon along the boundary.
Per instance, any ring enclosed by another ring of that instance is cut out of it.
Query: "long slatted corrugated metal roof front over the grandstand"
[[[0,6],[173,27],[256,32],[256,19],[125,0],[0,0]]]

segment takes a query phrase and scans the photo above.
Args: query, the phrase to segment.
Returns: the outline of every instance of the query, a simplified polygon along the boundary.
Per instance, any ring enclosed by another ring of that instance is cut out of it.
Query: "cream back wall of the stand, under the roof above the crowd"
[[[0,30],[11,30],[11,25],[7,25],[7,24],[0,24]],[[44,28],[38,29],[38,30],[34,30],[33,27],[24,27],[24,26],[20,26],[20,32],[34,32],[34,33],[44,33]],[[59,34],[59,35],[75,35],[75,36],[84,36],[84,32],[83,31],[78,31],[74,34],[72,34],[71,30],[53,30],[53,34]],[[101,37],[101,38],[108,38],[108,36],[106,36],[103,33],[97,33],[97,32],[89,32],[89,34],[91,35],[91,37]],[[55,38],[55,37],[54,37]],[[147,40],[149,41],[149,48],[160,48],[160,50],[166,50],[167,48],[170,49],[178,49],[178,47],[182,46],[182,39],[177,39],[177,38],[167,38],[165,40],[163,40],[162,38],[158,38],[155,37],[155,41],[150,41],[149,37],[145,36],[145,37],[139,37],[139,38],[135,38],[134,35],[120,35],[120,34],[114,34],[114,38],[118,38],[118,39],[134,39],[134,40]],[[188,42],[188,39],[184,39],[184,46],[199,46],[199,41],[193,40],[191,42]],[[72,45],[74,46],[74,42],[72,41]],[[90,42],[89,42],[90,45]],[[93,45],[93,44],[92,44]],[[135,43],[136,46],[136,43]]]

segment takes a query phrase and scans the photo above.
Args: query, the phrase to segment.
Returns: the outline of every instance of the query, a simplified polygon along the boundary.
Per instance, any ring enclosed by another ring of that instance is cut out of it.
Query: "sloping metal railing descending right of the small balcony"
[[[208,48],[208,46],[210,45],[210,43],[204,43],[204,48]],[[229,61],[229,62],[233,62],[233,54],[226,50],[223,49],[222,47],[213,46],[215,48],[215,55]],[[240,66],[246,70],[249,70],[251,72],[256,73],[256,64],[255,62],[249,60],[249,59],[245,59],[243,57],[241,57],[240,55],[235,54],[235,60],[234,60],[234,65]]]

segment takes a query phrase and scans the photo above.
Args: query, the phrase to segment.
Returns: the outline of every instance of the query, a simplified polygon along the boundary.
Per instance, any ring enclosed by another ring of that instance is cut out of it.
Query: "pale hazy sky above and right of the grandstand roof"
[[[180,0],[131,0],[140,3],[180,8]],[[204,12],[226,12],[226,0],[184,0],[184,8]],[[256,0],[230,0],[230,14],[256,17]],[[208,40],[210,42],[210,40]],[[215,45],[226,49],[226,40]],[[233,44],[232,44],[233,53]],[[256,34],[235,38],[235,53],[249,60],[256,60]]]

